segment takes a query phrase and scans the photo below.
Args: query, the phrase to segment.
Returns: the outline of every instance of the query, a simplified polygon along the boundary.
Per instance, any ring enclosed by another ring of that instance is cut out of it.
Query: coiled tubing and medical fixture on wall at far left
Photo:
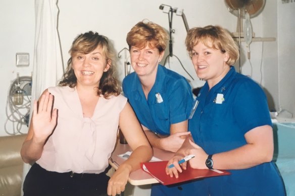
[[[32,77],[22,76],[11,83],[6,102],[7,119],[4,124],[5,132],[9,135],[22,134],[22,126],[29,125],[31,105]],[[8,130],[12,127],[12,130]]]

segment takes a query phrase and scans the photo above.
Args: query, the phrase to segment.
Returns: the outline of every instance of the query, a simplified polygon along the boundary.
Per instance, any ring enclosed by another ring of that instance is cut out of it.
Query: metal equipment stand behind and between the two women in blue
[[[186,32],[189,30],[188,28],[188,24],[187,24],[187,21],[186,21],[186,17],[183,13],[183,9],[179,9],[179,8],[172,8],[171,6],[168,6],[168,5],[165,5],[165,4],[161,4],[160,7],[159,7],[160,10],[162,10],[164,13],[168,14],[168,20],[169,20],[169,55],[166,56],[165,58],[165,61],[164,61],[164,66],[166,64],[166,61],[168,59],[168,62],[169,62],[169,58],[170,57],[176,57],[177,60],[179,61],[182,69],[186,72],[186,74],[192,79],[192,76],[186,71],[186,69],[183,67],[183,64],[181,63],[180,59],[173,54],[173,44],[172,44],[172,33],[175,33],[175,30],[172,29],[172,18],[173,18],[173,13],[175,13],[177,16],[181,16],[182,17],[182,20],[183,20],[183,23],[184,23],[184,26],[185,26],[185,29],[186,29]]]

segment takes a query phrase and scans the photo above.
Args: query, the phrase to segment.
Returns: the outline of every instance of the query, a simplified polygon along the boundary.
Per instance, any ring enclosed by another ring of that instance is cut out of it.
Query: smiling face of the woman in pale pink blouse
[[[92,52],[84,54],[76,52],[72,56],[72,68],[77,78],[78,86],[99,87],[104,72],[110,68],[101,46]]]

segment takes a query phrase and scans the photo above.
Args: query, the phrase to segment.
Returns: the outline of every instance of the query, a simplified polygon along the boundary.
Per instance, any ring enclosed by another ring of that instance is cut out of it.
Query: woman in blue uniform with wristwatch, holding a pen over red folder
[[[171,177],[186,169],[178,160],[188,154],[192,168],[226,169],[228,176],[194,181],[191,195],[285,195],[273,157],[273,132],[266,96],[251,78],[231,65],[239,53],[219,26],[192,28],[186,48],[196,74],[206,80],[196,98],[188,137],[168,162]]]

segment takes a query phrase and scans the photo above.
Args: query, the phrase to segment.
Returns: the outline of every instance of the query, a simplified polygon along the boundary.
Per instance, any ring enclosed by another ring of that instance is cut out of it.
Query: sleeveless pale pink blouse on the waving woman
[[[54,108],[58,109],[57,126],[36,161],[48,171],[101,173],[108,167],[114,150],[119,115],[126,105],[123,95],[100,97],[93,116],[83,117],[75,88],[51,87]]]

